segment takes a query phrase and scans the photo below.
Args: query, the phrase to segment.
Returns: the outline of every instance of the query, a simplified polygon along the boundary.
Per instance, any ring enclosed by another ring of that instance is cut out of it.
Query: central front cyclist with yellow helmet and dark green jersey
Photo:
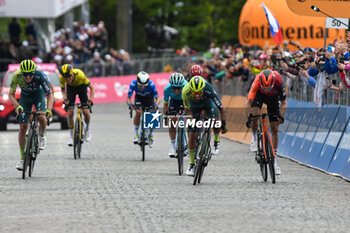
[[[226,114],[225,109],[218,98],[213,87],[201,76],[194,76],[190,82],[182,89],[182,99],[186,114],[197,117],[202,110],[209,118],[218,119],[219,112],[221,116],[221,132],[226,133]],[[194,175],[196,136],[194,128],[190,128],[188,147],[190,152],[190,165],[186,171],[189,176]],[[214,128],[214,147],[212,154],[219,153],[220,128]]]

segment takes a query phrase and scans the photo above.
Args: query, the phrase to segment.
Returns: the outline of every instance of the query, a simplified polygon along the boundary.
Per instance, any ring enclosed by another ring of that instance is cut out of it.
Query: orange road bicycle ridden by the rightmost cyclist
[[[261,115],[253,115],[253,117],[259,117],[258,119],[258,150],[256,151],[256,161],[260,165],[261,176],[264,182],[267,181],[267,167],[269,167],[271,182],[276,183],[276,174],[275,174],[275,149],[272,144],[271,134],[267,127],[266,117],[269,115],[276,114],[268,114],[263,113]]]

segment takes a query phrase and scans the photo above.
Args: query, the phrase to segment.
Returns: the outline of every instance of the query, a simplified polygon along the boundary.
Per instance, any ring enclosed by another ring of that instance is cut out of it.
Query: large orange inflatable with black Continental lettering
[[[262,48],[266,42],[277,45],[271,36],[262,2],[269,7],[280,24],[284,40],[298,41],[305,47],[323,47],[326,18],[297,15],[289,9],[285,0],[248,0],[239,19],[241,44],[259,45]],[[335,38],[345,39],[345,30],[328,29],[327,41],[332,42]],[[294,50],[295,47],[290,49]]]

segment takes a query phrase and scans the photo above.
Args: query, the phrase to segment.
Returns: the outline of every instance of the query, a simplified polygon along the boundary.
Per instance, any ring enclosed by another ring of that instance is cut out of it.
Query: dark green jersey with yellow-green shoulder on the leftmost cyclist
[[[15,92],[17,85],[21,88],[21,95],[39,95],[41,90],[45,92],[45,95],[51,93],[47,79],[38,70],[34,71],[33,80],[30,83],[24,80],[21,71],[14,72],[11,77],[10,92]]]

